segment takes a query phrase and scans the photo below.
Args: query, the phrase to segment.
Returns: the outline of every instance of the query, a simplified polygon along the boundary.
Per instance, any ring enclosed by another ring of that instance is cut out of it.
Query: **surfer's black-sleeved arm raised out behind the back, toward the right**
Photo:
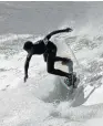
[[[62,29],[62,30],[55,30],[55,31],[49,33],[44,39],[48,39],[49,40],[54,34],[62,33],[62,32],[71,32],[71,31],[72,31],[71,28],[66,28],[66,29]]]

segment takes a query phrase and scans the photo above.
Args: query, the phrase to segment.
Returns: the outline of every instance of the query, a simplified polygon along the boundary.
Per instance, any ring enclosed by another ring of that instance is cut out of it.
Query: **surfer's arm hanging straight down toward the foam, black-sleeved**
[[[29,69],[29,63],[30,63],[31,56],[32,56],[31,54],[28,54],[25,63],[24,63],[24,82],[28,78],[28,69]]]

